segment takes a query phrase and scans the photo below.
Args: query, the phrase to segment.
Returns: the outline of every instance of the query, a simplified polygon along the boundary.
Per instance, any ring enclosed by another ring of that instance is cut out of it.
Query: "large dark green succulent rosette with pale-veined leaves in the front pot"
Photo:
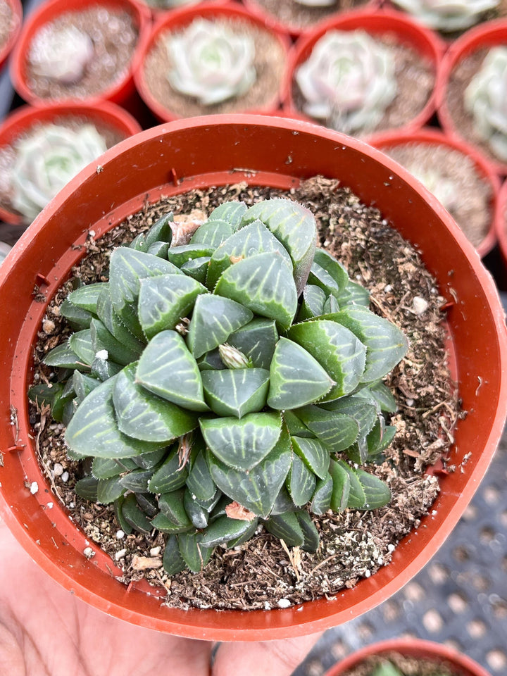
[[[168,574],[260,525],[314,551],[312,514],[390,499],[360,465],[394,436],[382,379],[406,338],[294,201],[226,202],[178,246],[171,221],[63,302],[75,332],[45,362],[73,375],[30,396],[67,425],[70,456],[91,459],[77,492],[114,503],[125,532],[167,534]]]

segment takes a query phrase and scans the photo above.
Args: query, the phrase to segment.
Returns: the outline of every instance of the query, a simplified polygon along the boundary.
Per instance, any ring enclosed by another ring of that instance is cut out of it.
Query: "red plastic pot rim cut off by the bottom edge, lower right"
[[[446,665],[448,669],[456,672],[456,676],[490,676],[480,664],[466,655],[433,641],[420,639],[391,639],[366,646],[335,664],[325,676],[344,676],[346,672],[356,668],[368,658],[380,656],[388,659],[389,653],[434,662],[435,668]]]

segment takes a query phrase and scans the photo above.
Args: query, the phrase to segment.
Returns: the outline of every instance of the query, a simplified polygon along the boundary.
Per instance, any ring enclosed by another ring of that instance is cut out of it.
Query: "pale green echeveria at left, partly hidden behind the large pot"
[[[32,221],[71,178],[105,151],[104,137],[94,125],[75,130],[61,125],[37,127],[15,144],[13,207]]]

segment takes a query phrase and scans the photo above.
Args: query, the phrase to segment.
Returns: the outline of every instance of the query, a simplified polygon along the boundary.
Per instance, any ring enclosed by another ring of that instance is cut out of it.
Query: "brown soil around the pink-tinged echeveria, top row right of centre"
[[[410,47],[399,44],[395,35],[386,34],[378,42],[394,52],[397,92],[375,129],[354,134],[358,137],[408,124],[423,110],[434,88],[435,70],[430,61]],[[302,112],[304,99],[295,79],[292,96],[296,109]]]

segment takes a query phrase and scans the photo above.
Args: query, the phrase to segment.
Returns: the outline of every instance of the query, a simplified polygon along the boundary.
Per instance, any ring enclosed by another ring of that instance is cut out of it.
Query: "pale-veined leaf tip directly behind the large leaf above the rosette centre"
[[[226,239],[213,253],[206,277],[206,286],[213,290],[224,270],[242,259],[273,251],[280,253],[289,269],[292,270],[292,261],[287,250],[268,227],[260,220],[249,223],[241,230],[234,232],[232,237]]]

